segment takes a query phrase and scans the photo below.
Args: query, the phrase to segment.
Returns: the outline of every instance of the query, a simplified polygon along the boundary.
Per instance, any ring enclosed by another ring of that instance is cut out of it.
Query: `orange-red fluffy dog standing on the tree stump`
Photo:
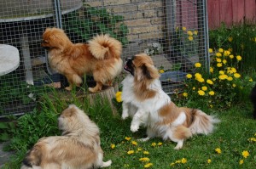
[[[88,43],[73,43],[65,32],[58,28],[47,28],[43,34],[42,46],[49,49],[49,65],[67,77],[71,90],[73,85],[80,86],[84,74],[90,74],[96,87],[90,92],[102,90],[103,85],[111,85],[122,70],[120,58],[122,44],[108,35],[97,35]]]

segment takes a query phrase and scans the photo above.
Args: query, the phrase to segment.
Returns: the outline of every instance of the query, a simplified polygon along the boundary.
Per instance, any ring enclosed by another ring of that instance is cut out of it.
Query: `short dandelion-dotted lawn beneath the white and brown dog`
[[[129,131],[130,121],[117,120],[114,124],[99,124],[109,131],[102,131],[102,148],[105,151],[105,160],[111,159],[113,165],[110,168],[143,168],[147,162],[139,161],[140,158],[148,157],[150,168],[253,168],[256,165],[256,144],[248,141],[248,138],[256,138],[256,121],[251,118],[250,106],[235,106],[230,110],[213,112],[218,115],[221,122],[216,131],[211,135],[198,135],[187,140],[181,150],[173,149],[176,144],[171,141],[164,142],[160,138],[154,138],[146,143],[132,141],[144,137],[145,130],[137,133]],[[110,125],[110,126],[109,126]],[[131,140],[125,140],[125,137]],[[154,143],[156,144],[154,146]],[[158,145],[162,143],[162,145]],[[115,144],[112,149],[111,144]],[[218,154],[215,149],[221,149]],[[134,153],[128,155],[129,150]],[[249,156],[243,158],[242,151],[247,150]],[[148,151],[149,155],[143,152]],[[185,160],[184,160],[184,159]],[[178,163],[183,159],[184,163]],[[208,163],[208,160],[211,160]],[[243,164],[239,162],[243,160]],[[171,163],[175,163],[170,166]]]

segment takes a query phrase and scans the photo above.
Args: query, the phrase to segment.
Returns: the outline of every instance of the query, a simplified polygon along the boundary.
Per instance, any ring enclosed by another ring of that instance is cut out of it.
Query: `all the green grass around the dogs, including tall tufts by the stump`
[[[53,91],[53,93],[55,93]],[[79,100],[76,97],[70,101],[63,101],[57,95],[49,99],[45,96],[44,100],[38,106],[33,114],[21,116],[18,122],[17,131],[11,140],[9,148],[15,149],[17,153],[11,161],[3,168],[20,168],[26,150],[30,149],[38,138],[49,135],[59,135],[56,130],[56,118],[61,110],[67,107],[67,104],[74,103],[79,105],[90,119],[95,121],[101,129],[102,149],[104,150],[104,160],[112,160],[112,166],[108,168],[143,168],[144,162],[139,161],[142,157],[148,157],[149,162],[153,163],[150,168],[253,168],[256,161],[256,144],[248,141],[248,138],[256,138],[256,122],[251,118],[252,105],[245,99],[240,105],[234,105],[229,110],[207,110],[201,104],[189,101],[178,102],[179,105],[189,105],[201,108],[207,113],[218,115],[221,122],[217,125],[215,132],[211,135],[196,135],[189,138],[184,143],[183,149],[173,149],[176,144],[172,141],[163,141],[160,138],[154,138],[146,143],[137,142],[137,145],[131,144],[131,141],[137,141],[137,138],[145,137],[145,129],[142,128],[136,133],[130,131],[131,119],[121,120],[120,115],[113,115],[108,100],[98,98],[96,104],[89,104],[87,99]],[[119,106],[120,108],[120,106]],[[121,109],[119,109],[119,114]],[[36,124],[34,124],[36,121]],[[32,125],[33,124],[33,125]],[[38,124],[38,125],[37,125]],[[44,127],[48,125],[48,127]],[[125,137],[131,137],[130,141]],[[153,143],[162,143],[162,145],[152,146]],[[115,144],[115,148],[111,148]],[[142,150],[137,150],[141,148]],[[222,150],[221,154],[215,152],[216,148]],[[127,151],[135,150],[135,153],[128,155]],[[248,150],[250,155],[244,159],[244,163],[239,165],[243,159],[241,152]],[[149,155],[143,155],[143,151],[148,151]],[[185,158],[186,163],[175,164],[172,162]],[[207,160],[211,159],[208,164]]]

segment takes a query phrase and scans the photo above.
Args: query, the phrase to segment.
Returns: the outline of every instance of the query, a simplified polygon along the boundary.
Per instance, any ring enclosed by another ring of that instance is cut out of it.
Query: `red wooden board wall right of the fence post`
[[[256,24],[256,0],[207,0],[209,29],[243,23]]]

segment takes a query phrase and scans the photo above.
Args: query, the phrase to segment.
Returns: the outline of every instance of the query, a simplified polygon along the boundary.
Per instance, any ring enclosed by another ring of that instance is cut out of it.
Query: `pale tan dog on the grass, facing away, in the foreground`
[[[110,166],[103,162],[100,131],[74,104],[58,118],[61,136],[41,138],[26,154],[21,169],[89,169]]]

